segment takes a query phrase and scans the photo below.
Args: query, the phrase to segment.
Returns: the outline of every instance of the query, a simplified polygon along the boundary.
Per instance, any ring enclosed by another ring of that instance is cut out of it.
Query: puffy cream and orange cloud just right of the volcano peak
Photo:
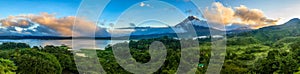
[[[279,21],[279,19],[268,19],[264,13],[258,9],[249,9],[244,5],[235,8],[225,7],[219,2],[213,3],[211,8],[206,8],[203,12],[203,17],[209,22],[216,24],[249,25],[253,29],[276,25]]]

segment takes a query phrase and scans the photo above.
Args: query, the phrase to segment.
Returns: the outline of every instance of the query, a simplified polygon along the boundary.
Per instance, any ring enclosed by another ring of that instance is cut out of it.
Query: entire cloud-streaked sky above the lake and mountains
[[[0,23],[0,34],[69,36],[71,35],[69,32],[72,32],[70,22],[74,21],[81,2],[82,0],[0,0],[0,20],[2,22]],[[238,22],[229,21],[228,23],[257,24],[255,22],[259,22],[258,24],[273,24],[273,22],[256,20],[257,18],[249,20],[249,18],[236,15],[224,18],[209,14],[216,12],[214,9],[219,9],[218,7],[228,10],[229,14],[237,14],[240,12],[237,8],[243,6],[253,13],[259,11],[261,17],[258,19],[263,18],[268,21],[276,21],[276,24],[282,24],[289,19],[300,17],[299,2],[299,0],[111,0],[100,15],[98,23],[94,26],[99,27],[97,28],[99,31],[103,31],[102,28],[112,27],[174,26],[190,15],[197,16],[201,20],[221,18],[221,22],[228,18],[233,20],[247,19]],[[22,16],[21,20],[19,20],[20,16]],[[18,18],[17,22],[16,18]],[[90,24],[84,18],[80,19],[80,23]],[[92,29],[94,26],[82,26],[82,30]],[[80,30],[76,33],[84,32]]]

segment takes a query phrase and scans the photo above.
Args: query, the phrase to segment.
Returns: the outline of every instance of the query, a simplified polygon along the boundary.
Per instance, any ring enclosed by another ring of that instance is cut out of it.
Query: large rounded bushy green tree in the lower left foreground
[[[24,49],[14,54],[19,74],[61,74],[62,68],[55,56],[36,50]]]

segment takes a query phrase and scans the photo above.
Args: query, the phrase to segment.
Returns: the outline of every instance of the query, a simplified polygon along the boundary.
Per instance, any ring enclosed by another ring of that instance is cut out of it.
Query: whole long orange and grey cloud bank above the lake
[[[12,19],[18,18],[25,18],[27,20],[16,21],[16,22],[8,22],[7,21],[14,21]],[[35,23],[39,24],[40,26],[34,28],[40,32],[51,33],[55,34],[53,31],[57,32],[62,36],[93,36],[95,33],[104,33],[98,31],[105,31],[102,28],[95,25],[95,23],[85,20],[83,18],[76,18],[75,16],[67,16],[57,18],[53,14],[48,13],[41,13],[39,15],[19,15],[19,16],[11,16],[7,17],[5,21],[1,22],[2,26],[9,27],[9,26],[26,26],[23,28],[30,27],[28,23]],[[77,25],[74,25],[76,22]],[[73,29],[73,27],[76,27]],[[99,34],[97,34],[99,35]],[[105,34],[106,36],[107,34]],[[102,35],[104,36],[104,35]]]

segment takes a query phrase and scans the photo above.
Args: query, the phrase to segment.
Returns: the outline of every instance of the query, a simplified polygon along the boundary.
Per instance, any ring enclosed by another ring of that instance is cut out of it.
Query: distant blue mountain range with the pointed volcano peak
[[[242,25],[231,25],[226,26],[226,30],[219,30],[215,28],[209,28],[209,25],[206,21],[199,20],[195,16],[189,16],[181,23],[178,23],[175,26],[169,27],[127,27],[119,29],[133,29],[134,31],[130,34],[131,36],[151,36],[151,37],[160,37],[161,35],[165,36],[174,36],[176,34],[187,33],[195,31],[198,36],[209,36],[210,31],[227,31],[228,33],[239,33],[245,31],[251,31],[252,29],[247,26]]]

